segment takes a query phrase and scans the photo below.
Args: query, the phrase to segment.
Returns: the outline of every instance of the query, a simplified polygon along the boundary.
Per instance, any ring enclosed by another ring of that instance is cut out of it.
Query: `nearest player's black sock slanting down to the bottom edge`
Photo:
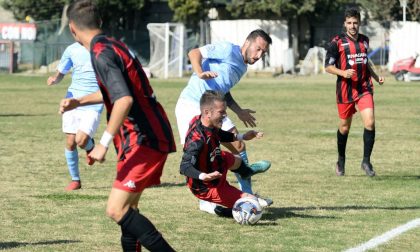
[[[129,208],[127,213],[118,222],[123,233],[136,237],[142,246],[150,251],[175,251],[155,226],[142,214]]]

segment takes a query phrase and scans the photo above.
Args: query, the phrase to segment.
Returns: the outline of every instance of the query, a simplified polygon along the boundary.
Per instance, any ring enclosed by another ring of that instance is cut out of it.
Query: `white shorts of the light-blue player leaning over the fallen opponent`
[[[185,99],[179,99],[175,107],[176,122],[178,125],[179,139],[181,144],[185,143],[185,137],[187,136],[188,127],[191,120],[200,115],[200,104]],[[222,130],[230,131],[235,128],[232,120],[229,117],[223,119]]]

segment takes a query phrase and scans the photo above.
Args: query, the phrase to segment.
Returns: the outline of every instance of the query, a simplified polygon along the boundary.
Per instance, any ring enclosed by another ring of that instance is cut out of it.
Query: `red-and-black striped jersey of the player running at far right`
[[[356,71],[351,78],[337,76],[337,103],[351,103],[367,93],[373,95],[372,79],[368,69],[368,48],[369,38],[363,34],[358,35],[357,41],[346,34],[341,34],[329,43],[325,66],[335,65],[341,70]]]

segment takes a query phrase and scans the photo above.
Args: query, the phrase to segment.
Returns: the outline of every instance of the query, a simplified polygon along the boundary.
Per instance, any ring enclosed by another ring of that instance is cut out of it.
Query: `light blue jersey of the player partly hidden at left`
[[[57,71],[65,75],[71,68],[73,68],[73,73],[66,98],[79,98],[99,90],[90,60],[90,53],[77,42],[66,48],[57,66]],[[78,109],[95,110],[101,113],[103,104],[80,106]]]

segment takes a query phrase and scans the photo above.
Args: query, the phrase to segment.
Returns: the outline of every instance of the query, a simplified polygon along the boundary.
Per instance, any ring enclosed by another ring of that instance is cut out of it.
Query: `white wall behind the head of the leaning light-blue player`
[[[280,20],[217,20],[210,22],[211,42],[229,41],[242,46],[246,37],[255,29],[267,32],[273,43],[270,46],[269,65],[272,68],[281,67],[284,62],[284,52],[289,47],[287,22]],[[263,62],[259,60],[248,67],[250,70],[263,69]]]

